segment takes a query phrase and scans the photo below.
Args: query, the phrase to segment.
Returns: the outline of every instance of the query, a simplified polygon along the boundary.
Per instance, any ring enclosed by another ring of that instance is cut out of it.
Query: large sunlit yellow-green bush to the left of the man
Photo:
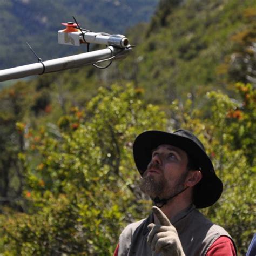
[[[20,154],[27,213],[6,217],[4,253],[111,254],[127,221],[150,204],[138,190],[131,147],[136,134],[165,129],[163,112],[141,92],[100,88],[84,111],[73,108],[55,133],[31,136]],[[58,136],[56,136],[58,134]]]

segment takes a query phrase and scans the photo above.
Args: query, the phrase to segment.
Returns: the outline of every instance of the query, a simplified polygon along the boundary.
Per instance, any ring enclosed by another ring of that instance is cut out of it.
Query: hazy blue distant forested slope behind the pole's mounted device
[[[75,16],[82,28],[94,32],[125,33],[147,22],[158,0],[0,1],[0,69],[36,62],[26,42],[48,60],[68,56],[77,47],[58,45],[58,30]]]

